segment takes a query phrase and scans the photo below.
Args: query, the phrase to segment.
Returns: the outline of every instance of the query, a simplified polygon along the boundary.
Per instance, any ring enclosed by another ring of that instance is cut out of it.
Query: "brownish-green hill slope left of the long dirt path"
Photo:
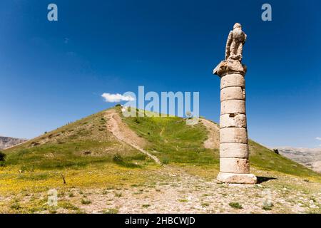
[[[116,155],[123,157],[128,165],[129,161],[145,161],[146,156],[141,152],[113,138],[106,129],[104,113],[90,115],[5,150],[4,165],[18,166],[21,170],[79,169],[114,162]]]

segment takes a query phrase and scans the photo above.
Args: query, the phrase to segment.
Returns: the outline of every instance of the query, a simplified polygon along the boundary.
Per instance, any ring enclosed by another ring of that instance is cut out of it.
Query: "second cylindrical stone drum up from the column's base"
[[[220,157],[248,158],[248,144],[220,143]]]

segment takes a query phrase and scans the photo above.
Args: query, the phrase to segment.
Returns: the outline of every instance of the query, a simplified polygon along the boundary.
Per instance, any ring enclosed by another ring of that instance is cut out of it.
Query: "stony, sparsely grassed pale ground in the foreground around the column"
[[[59,188],[58,206],[44,207],[47,192],[2,196],[1,212],[36,213],[320,213],[320,183],[256,170],[258,185],[225,185],[168,165],[148,171],[148,181],[106,188]],[[208,172],[210,173],[210,172]],[[213,178],[213,179],[212,179]],[[68,180],[67,180],[68,181]],[[38,205],[38,206],[37,206]],[[28,210],[24,210],[28,208]]]

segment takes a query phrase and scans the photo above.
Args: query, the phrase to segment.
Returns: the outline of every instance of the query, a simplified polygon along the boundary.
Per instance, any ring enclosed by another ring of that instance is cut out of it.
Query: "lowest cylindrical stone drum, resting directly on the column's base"
[[[250,164],[246,158],[220,158],[220,172],[250,173]]]

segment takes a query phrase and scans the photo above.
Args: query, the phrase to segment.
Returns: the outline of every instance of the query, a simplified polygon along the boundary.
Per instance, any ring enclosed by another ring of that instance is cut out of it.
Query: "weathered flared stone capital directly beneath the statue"
[[[240,61],[229,58],[228,60],[221,61],[213,70],[213,74],[218,75],[220,78],[230,73],[240,73],[245,76],[246,71],[247,67],[240,63]]]

